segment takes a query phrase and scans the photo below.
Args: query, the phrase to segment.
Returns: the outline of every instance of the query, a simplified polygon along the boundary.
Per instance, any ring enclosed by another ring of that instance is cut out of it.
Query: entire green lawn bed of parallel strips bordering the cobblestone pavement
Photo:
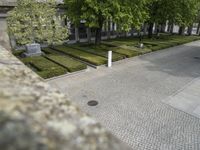
[[[144,37],[145,47],[143,49],[137,47],[138,38],[129,37],[106,40],[98,46],[94,44],[74,44],[42,48],[43,56],[23,58],[22,54],[25,50],[13,51],[13,54],[42,78],[47,79],[67,72],[86,69],[87,65],[81,61],[96,66],[106,64],[109,50],[113,51],[113,61],[117,61],[125,57],[134,57],[142,53],[157,51],[195,40],[200,40],[200,36],[162,34],[159,38],[148,39]]]

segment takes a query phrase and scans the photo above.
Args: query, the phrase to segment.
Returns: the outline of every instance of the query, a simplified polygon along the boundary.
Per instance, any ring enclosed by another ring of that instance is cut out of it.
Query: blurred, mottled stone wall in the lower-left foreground
[[[129,150],[0,46],[3,150]]]

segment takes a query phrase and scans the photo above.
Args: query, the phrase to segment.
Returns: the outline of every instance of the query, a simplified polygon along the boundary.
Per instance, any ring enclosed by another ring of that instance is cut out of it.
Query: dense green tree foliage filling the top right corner
[[[162,24],[168,20],[189,26],[197,17],[199,3],[199,0],[152,0],[148,4],[149,22]]]

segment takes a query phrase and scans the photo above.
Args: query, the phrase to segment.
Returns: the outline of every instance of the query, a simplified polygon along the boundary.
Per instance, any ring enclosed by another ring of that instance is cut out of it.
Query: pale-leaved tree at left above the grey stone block
[[[67,28],[56,17],[55,0],[38,2],[36,0],[18,0],[17,7],[9,12],[8,30],[18,44],[47,42],[62,43],[68,36]]]

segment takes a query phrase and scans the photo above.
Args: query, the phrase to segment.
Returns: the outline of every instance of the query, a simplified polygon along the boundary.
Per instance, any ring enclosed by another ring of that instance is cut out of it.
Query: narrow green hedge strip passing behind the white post
[[[82,50],[82,51],[85,51],[85,52],[88,52],[88,53],[92,53],[94,55],[99,55],[99,56],[102,56],[102,57],[105,57],[105,58],[108,58],[108,49],[103,49],[99,46],[94,46],[94,45],[71,45],[71,46],[68,46],[68,47],[73,47],[73,48],[76,48],[76,49],[79,49],[79,50]],[[112,61],[118,61],[118,60],[122,60],[124,59],[126,56],[125,55],[122,55],[122,54],[118,54],[118,53],[113,53],[112,54]]]

